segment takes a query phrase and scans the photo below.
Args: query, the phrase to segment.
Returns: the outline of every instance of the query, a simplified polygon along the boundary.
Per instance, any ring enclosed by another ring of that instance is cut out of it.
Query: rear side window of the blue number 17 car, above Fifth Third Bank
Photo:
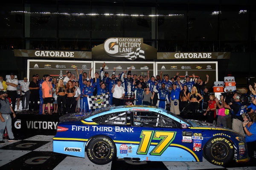
[[[97,124],[126,125],[126,112],[114,112],[93,118]]]

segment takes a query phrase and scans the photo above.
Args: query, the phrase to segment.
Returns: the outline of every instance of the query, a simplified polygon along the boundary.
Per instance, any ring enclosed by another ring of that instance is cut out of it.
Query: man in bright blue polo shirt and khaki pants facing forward
[[[179,96],[180,96],[180,91],[183,90],[182,85],[180,82],[178,82],[180,85],[180,88],[177,88],[176,84],[173,84],[172,87],[172,92],[170,93],[170,102],[171,102],[171,112],[174,113],[175,115],[180,115],[180,109],[179,109]]]

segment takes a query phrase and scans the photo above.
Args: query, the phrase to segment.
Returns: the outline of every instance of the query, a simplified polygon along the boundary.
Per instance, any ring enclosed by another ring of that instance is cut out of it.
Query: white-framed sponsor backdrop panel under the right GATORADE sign
[[[175,67],[175,69],[173,69]],[[209,75],[209,82],[206,84],[208,89],[212,88],[214,81],[218,81],[218,63],[215,61],[205,62],[156,62],[156,75],[168,74],[169,79],[175,77],[179,72],[180,82],[186,82],[186,76],[189,76],[190,81],[194,81],[195,78],[200,77],[203,82],[207,81],[206,75]]]

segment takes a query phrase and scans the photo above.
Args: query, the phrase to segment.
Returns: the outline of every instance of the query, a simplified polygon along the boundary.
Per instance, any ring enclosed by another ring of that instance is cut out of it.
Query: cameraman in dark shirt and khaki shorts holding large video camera
[[[231,109],[233,120],[232,120],[232,129],[241,135],[245,136],[243,130],[243,117],[242,114],[245,112],[244,106],[242,106],[241,101],[241,94],[235,93],[233,95],[233,102],[230,104],[226,103],[226,97],[224,98],[224,107],[227,109]]]

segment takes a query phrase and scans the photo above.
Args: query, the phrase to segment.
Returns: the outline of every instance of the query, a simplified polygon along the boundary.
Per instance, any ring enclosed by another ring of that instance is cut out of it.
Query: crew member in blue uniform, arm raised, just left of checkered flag
[[[91,82],[93,82],[92,79],[91,79]],[[90,112],[91,110],[89,109],[88,100],[87,100],[87,97],[85,97],[85,95],[88,95],[88,96],[93,95],[93,92],[95,91],[96,83],[93,83],[93,86],[87,86],[87,85],[83,84],[82,75],[80,74],[79,75],[79,85],[80,85],[80,89],[81,89],[81,98],[82,98],[80,100],[81,111]]]

